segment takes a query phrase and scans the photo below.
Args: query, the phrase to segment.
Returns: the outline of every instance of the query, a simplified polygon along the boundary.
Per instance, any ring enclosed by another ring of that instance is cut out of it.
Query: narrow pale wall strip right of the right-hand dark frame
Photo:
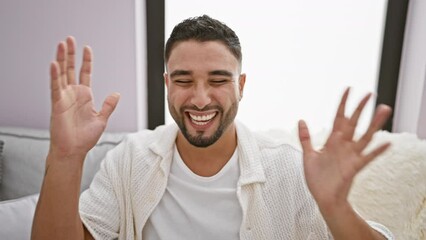
[[[395,106],[394,132],[426,138],[426,1],[411,0]],[[423,98],[423,99],[422,99]]]

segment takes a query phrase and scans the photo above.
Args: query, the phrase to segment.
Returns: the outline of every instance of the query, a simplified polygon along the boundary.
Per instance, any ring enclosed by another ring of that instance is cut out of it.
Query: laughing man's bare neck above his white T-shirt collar
[[[179,132],[177,136],[176,146],[182,160],[192,172],[203,177],[213,176],[226,165],[237,147],[235,123],[231,124],[223,135],[208,147],[200,148],[192,145],[182,132]]]

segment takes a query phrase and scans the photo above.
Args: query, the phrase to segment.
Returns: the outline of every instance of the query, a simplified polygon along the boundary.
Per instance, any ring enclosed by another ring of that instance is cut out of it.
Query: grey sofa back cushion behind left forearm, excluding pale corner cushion
[[[89,186],[106,152],[117,145],[123,137],[123,133],[104,133],[97,145],[88,153],[84,163],[81,190]],[[49,132],[0,127],[0,140],[5,143],[0,199],[15,199],[38,193],[49,149]]]

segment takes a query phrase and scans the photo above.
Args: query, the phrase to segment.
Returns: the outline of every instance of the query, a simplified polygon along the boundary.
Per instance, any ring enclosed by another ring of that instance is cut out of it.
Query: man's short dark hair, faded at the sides
[[[241,65],[241,44],[237,34],[226,24],[207,15],[183,20],[173,28],[164,51],[164,60],[167,63],[173,47],[178,42],[196,40],[220,41],[231,51]]]

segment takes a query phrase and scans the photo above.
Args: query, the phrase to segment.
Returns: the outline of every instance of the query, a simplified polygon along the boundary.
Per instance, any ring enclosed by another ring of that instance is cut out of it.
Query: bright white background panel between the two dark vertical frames
[[[386,3],[167,0],[166,37],[188,17],[208,14],[225,22],[240,37],[247,73],[237,117],[257,130],[292,130],[305,119],[317,132],[331,127],[347,86],[353,87],[348,114],[362,96],[376,92]],[[368,126],[373,103],[358,130]]]

